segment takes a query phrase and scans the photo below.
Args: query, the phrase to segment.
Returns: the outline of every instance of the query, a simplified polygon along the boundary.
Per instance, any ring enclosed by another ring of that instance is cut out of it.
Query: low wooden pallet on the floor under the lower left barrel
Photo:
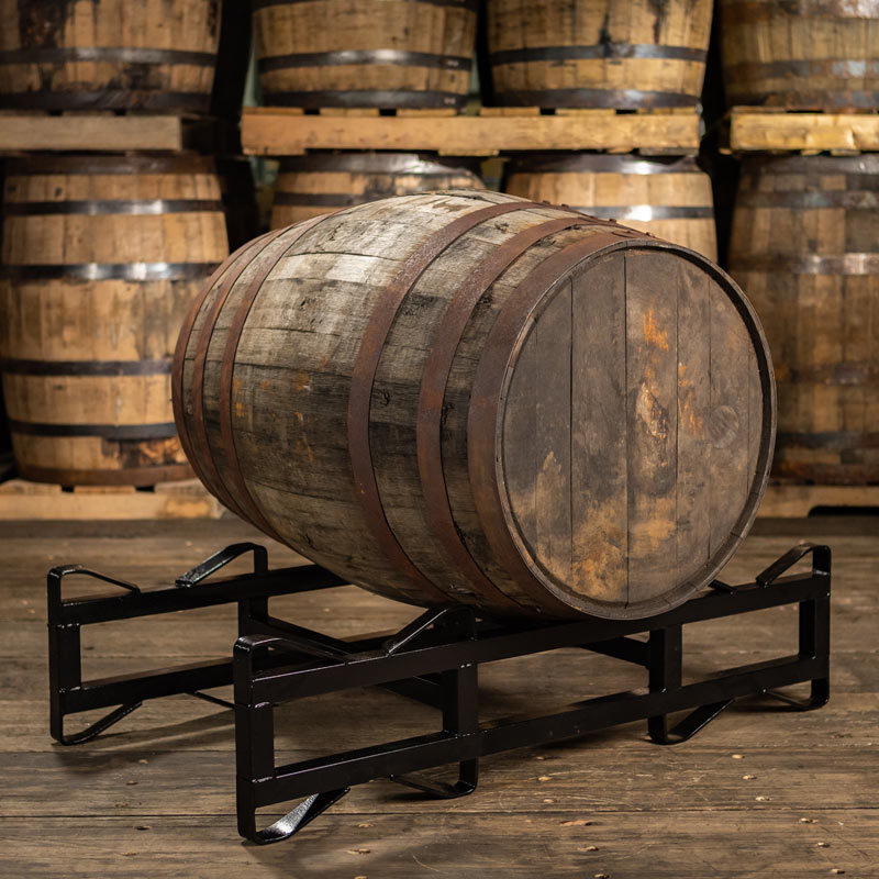
[[[60,486],[10,479],[0,485],[0,521],[15,519],[220,519],[223,507],[197,479],[162,482],[151,491],[133,486]]]

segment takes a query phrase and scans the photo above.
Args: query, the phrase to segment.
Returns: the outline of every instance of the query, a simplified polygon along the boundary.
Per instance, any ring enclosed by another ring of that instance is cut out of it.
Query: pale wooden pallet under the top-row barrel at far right
[[[724,152],[832,153],[879,151],[879,113],[791,112],[734,107],[730,149]]]

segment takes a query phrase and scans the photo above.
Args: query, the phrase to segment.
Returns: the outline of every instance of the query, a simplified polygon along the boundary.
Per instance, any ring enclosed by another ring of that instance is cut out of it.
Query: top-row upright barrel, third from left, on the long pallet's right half
[[[696,107],[711,0],[489,0],[501,105]]]

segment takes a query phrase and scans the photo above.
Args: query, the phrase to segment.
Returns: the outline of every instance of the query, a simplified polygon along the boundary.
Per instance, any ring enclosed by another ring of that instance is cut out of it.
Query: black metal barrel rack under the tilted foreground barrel
[[[205,579],[246,553],[253,572]],[[811,555],[811,571],[790,575]],[[118,591],[90,598],[62,598],[71,575],[97,578]],[[48,572],[48,655],[52,736],[65,745],[88,742],[125,717],[146,699],[190,693],[234,708],[238,832],[253,843],[286,839],[344,797],[353,785],[389,779],[434,798],[471,793],[479,757],[538,743],[582,736],[596,730],[646,720],[660,745],[683,742],[703,728],[735,699],[766,693],[790,710],[820,708],[830,696],[831,552],[801,544],[757,575],[754,582],[713,581],[686,604],[646,620],[597,620],[537,624],[498,623],[455,605],[429,610],[392,634],[340,641],[274,619],[268,599],[343,586],[346,581],[318,567],[269,570],[264,547],[234,544],[177,578],[174,586],[141,589],[80,565]],[[231,657],[202,665],[156,669],[103,680],[81,677],[80,630],[99,622],[237,602],[238,639]],[[799,646],[790,656],[728,668],[693,683],[682,683],[681,630],[753,611],[799,604]],[[633,638],[648,633],[646,641]],[[581,647],[647,669],[647,687],[567,705],[558,713],[479,723],[478,669],[486,663],[563,647]],[[804,701],[776,692],[811,682]],[[234,685],[234,705],[203,693]],[[287,766],[275,765],[274,706],[297,698],[354,687],[378,686],[416,699],[442,712],[433,734],[388,742]],[[115,706],[86,730],[65,733],[68,714]],[[675,725],[669,715],[689,712]],[[436,782],[421,770],[458,764],[457,779]],[[256,810],[301,802],[265,830]]]

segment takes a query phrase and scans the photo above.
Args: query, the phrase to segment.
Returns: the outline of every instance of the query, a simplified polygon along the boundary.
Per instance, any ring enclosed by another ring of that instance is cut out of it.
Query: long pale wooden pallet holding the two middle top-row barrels
[[[692,111],[617,113],[538,108],[483,108],[476,115],[397,111],[307,113],[297,108],[245,108],[244,152],[297,156],[309,149],[436,151],[439,155],[496,156],[501,152],[604,149],[612,153],[692,155],[699,149]]]

